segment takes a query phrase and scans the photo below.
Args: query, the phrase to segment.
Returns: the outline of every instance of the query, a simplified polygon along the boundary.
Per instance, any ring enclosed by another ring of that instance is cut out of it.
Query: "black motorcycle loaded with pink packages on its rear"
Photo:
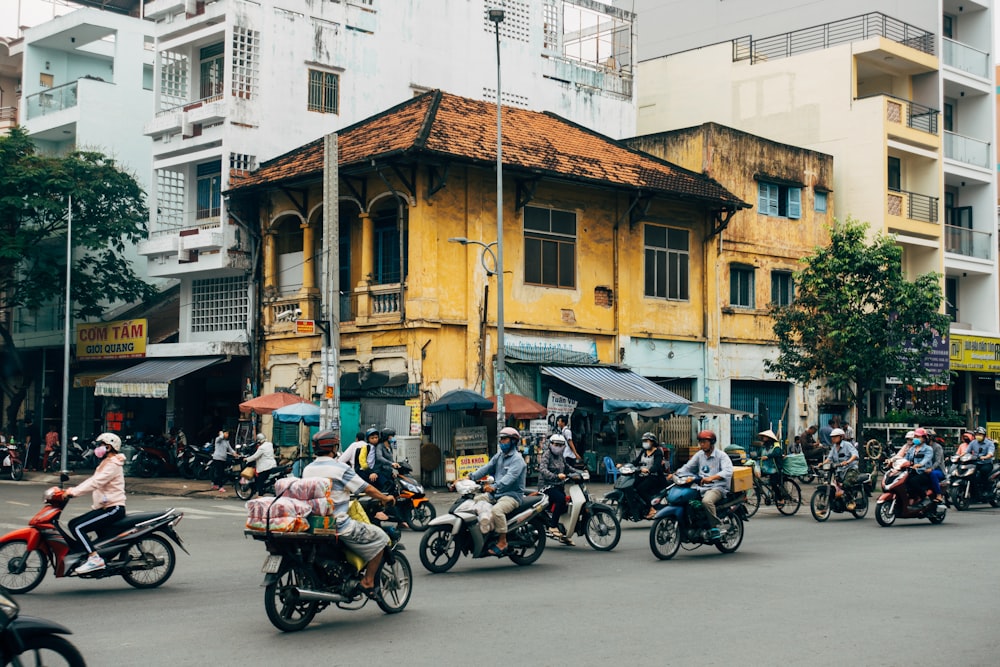
[[[346,547],[335,530],[313,529],[311,533],[276,533],[247,530],[245,534],[264,542],[267,558],[264,573],[264,610],[268,620],[282,632],[305,628],[329,605],[356,610],[369,599],[387,614],[396,614],[410,601],[413,574],[402,554],[399,534],[387,530],[389,548],[375,574],[375,591],[361,589],[365,562]]]

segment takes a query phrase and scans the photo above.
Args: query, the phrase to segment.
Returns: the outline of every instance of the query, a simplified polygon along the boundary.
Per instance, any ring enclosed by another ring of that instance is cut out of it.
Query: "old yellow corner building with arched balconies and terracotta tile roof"
[[[547,364],[628,363],[636,337],[703,343],[714,299],[704,241],[748,204],[553,114],[503,116],[508,391],[543,403],[550,390],[569,395],[593,433],[608,397]],[[239,181],[233,207],[262,234],[260,393],[324,393],[321,327],[303,321],[325,318],[320,276],[333,246],[345,439],[385,423],[387,406],[458,387],[493,393],[490,255],[448,241],[496,241],[495,128],[495,105],[434,91],[344,129],[325,190],[336,229],[324,228],[322,139]]]

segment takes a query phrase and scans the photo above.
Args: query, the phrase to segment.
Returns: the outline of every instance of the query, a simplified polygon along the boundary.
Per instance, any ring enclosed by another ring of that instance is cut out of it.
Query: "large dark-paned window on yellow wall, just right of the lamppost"
[[[524,207],[524,282],[576,287],[576,213]]]

